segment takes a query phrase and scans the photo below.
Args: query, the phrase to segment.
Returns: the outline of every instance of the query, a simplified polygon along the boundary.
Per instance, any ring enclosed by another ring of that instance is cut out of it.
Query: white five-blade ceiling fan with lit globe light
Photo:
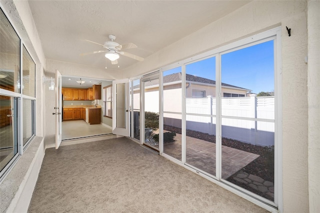
[[[101,45],[104,48],[106,48],[106,50],[97,50],[97,51],[93,51],[93,52],[86,52],[86,53],[81,53],[80,55],[88,55],[88,54],[106,52],[104,54],[104,56],[111,61],[111,64],[117,64],[118,63],[117,59],[120,57],[120,55],[124,55],[124,56],[130,57],[130,58],[133,58],[133,59],[139,60],[139,61],[142,61],[144,59],[143,57],[131,54],[129,52],[120,51],[121,49],[136,48],[137,46],[134,43],[125,43],[125,44],[120,45],[117,42],[114,42],[115,35],[109,35],[108,37],[111,41],[105,41],[104,44],[96,43],[91,40],[86,40],[86,41]]]

